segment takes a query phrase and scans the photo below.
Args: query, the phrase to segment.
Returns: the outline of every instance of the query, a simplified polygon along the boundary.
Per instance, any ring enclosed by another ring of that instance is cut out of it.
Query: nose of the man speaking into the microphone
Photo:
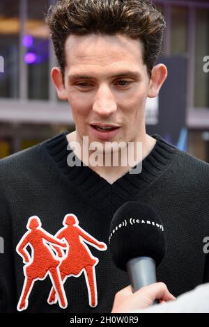
[[[93,103],[93,111],[100,116],[108,116],[117,110],[116,100],[109,86],[102,85],[98,89]]]

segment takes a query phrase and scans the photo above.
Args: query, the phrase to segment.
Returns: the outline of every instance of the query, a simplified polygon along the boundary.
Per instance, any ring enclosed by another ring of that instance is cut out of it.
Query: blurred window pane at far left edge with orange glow
[[[0,56],[4,72],[0,73],[0,97],[19,97],[19,1],[0,1]]]

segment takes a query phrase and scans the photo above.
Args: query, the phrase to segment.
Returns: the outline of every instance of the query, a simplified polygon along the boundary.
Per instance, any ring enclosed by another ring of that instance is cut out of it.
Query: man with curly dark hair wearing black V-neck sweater
[[[65,276],[67,308],[59,306],[59,294],[47,302],[51,282],[46,273],[34,283],[25,312],[111,312],[115,294],[129,280],[111,260],[109,225],[116,209],[129,200],[150,205],[162,219],[167,256],[157,280],[175,296],[208,281],[203,253],[203,238],[209,234],[208,164],[146,134],[146,98],[156,97],[167,77],[167,68],[155,65],[165,27],[162,15],[148,0],[64,0],[50,8],[47,24],[59,63],[52,81],[59,98],[70,104],[75,131],[0,163],[1,311],[14,312],[21,296],[24,266],[15,248],[29,217],[38,216],[42,228],[56,235],[63,218],[75,215],[84,233],[100,244],[98,250],[80,237],[98,259],[93,277],[86,276],[88,262],[79,246],[72,248],[71,266],[65,271],[61,264],[57,267]],[[100,145],[98,164],[92,159],[95,142]],[[137,151],[141,143],[142,153]],[[122,164],[130,144],[137,166]],[[72,239],[71,246],[79,243]],[[61,262],[66,256],[65,250],[59,253]],[[30,260],[32,264],[32,255]],[[84,269],[69,275],[78,262]]]

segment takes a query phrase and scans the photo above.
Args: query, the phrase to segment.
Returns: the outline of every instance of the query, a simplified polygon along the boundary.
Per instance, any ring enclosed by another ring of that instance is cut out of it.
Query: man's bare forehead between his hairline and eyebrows
[[[69,35],[65,42],[65,64],[72,70],[139,69],[143,45],[125,35]]]

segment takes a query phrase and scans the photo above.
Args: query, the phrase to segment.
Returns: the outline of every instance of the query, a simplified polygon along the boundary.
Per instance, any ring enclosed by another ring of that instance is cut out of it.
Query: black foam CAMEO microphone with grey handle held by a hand
[[[111,221],[109,246],[116,266],[127,271],[134,292],[156,282],[156,267],[164,259],[166,241],[162,222],[152,207],[134,201],[119,207]]]

